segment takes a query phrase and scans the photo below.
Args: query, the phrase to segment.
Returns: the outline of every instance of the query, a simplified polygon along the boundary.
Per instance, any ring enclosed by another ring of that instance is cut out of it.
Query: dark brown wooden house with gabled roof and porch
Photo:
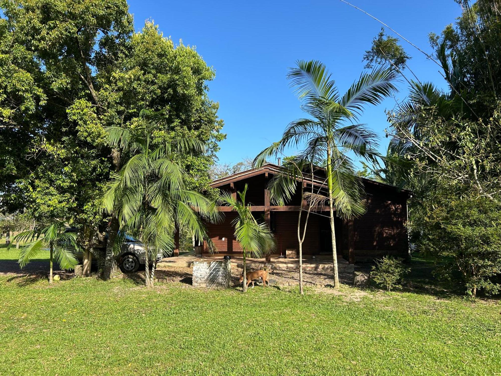
[[[298,249],[297,224],[300,205],[307,208],[298,190],[291,202],[285,206],[274,206],[270,203],[268,183],[279,166],[266,164],[258,169],[250,169],[214,180],[212,187],[231,192],[236,195],[248,185],[246,200],[252,206],[254,216],[258,220],[268,222],[277,240],[277,254],[285,255],[287,249]],[[324,174],[324,176],[322,176]],[[315,173],[314,185],[324,189],[325,173]],[[370,261],[374,258],[390,254],[406,257],[408,254],[407,231],[404,226],[407,220],[407,191],[399,191],[396,187],[363,179],[366,191],[367,212],[360,218],[348,221],[336,218],[335,230],[338,254],[350,263]],[[311,177],[308,186],[311,187]],[[236,213],[229,207],[220,207],[224,212],[224,220],[216,224],[207,224],[209,237],[218,255],[241,255],[241,248],[234,239],[232,220]],[[304,217],[304,216],[303,216]],[[310,214],[306,239],[303,243],[303,257],[332,254],[329,207],[316,208]],[[202,255],[210,253],[205,241]]]

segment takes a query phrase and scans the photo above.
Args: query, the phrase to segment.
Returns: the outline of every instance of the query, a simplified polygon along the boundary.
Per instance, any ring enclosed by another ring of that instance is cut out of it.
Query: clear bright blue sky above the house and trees
[[[430,52],[428,33],[440,33],[459,16],[453,0],[352,0],[414,44]],[[277,141],[286,125],[303,117],[286,74],[298,59],[327,65],[344,93],[363,70],[362,56],[381,25],[367,15],[331,1],[154,1],[129,0],[136,29],[153,19],[175,43],[196,46],[215,70],[209,96],[219,102],[227,138],[221,163],[236,163]],[[389,30],[387,30],[389,32]],[[410,67],[421,81],[442,84],[438,66],[403,43]],[[405,85],[396,99],[405,98]],[[361,122],[380,135],[386,150],[385,109],[395,98],[369,107]],[[294,150],[290,150],[294,153]]]

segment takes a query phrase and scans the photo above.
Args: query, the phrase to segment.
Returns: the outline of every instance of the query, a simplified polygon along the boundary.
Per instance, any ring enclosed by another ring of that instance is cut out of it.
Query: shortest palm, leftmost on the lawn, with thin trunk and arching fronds
[[[43,249],[50,251],[49,283],[53,282],[52,270],[53,259],[65,270],[75,268],[78,260],[75,256],[77,248],[77,234],[74,232],[64,232],[64,222],[55,222],[44,229],[27,230],[15,236],[17,243],[26,243],[19,253],[19,265],[24,268],[31,259],[38,256]],[[27,243],[28,242],[28,243]]]

